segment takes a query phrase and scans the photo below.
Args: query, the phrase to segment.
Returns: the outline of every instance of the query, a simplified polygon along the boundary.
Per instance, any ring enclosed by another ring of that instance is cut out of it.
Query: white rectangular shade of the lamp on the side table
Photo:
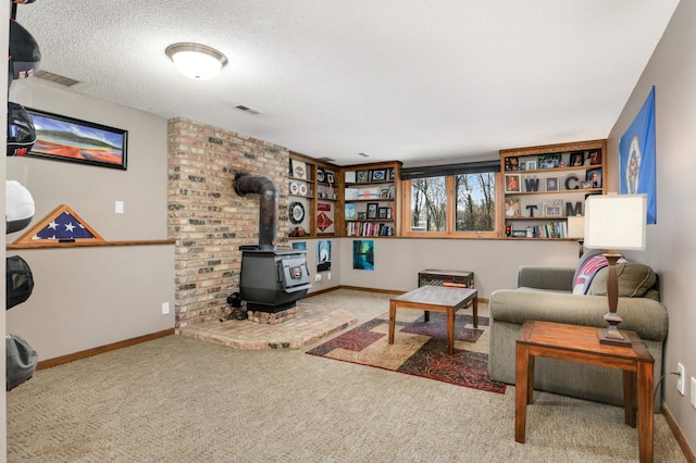
[[[592,195],[585,201],[585,248],[644,250],[646,195]]]

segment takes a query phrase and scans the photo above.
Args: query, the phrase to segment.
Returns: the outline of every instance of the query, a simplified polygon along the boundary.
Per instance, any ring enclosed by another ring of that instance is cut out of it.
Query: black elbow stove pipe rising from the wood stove
[[[237,174],[233,186],[241,197],[259,193],[259,250],[275,250],[278,228],[278,192],[275,185],[265,177]]]

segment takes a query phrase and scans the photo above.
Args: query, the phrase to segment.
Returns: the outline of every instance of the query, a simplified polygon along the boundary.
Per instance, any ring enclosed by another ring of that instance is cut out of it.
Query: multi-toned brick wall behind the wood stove
[[[176,240],[176,328],[217,320],[239,290],[239,246],[257,245],[259,197],[238,197],[237,173],[278,190],[277,240],[288,235],[287,148],[185,118],[169,121],[169,237]]]

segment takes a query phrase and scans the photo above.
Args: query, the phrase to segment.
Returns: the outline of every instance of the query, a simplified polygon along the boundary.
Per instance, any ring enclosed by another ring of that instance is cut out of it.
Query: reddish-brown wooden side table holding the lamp
[[[524,443],[526,405],[534,400],[534,358],[588,363],[623,371],[625,423],[636,427],[637,404],[641,462],[651,462],[655,360],[634,331],[622,330],[632,341],[629,348],[600,345],[597,329],[561,323],[524,322],[517,341],[514,440]]]

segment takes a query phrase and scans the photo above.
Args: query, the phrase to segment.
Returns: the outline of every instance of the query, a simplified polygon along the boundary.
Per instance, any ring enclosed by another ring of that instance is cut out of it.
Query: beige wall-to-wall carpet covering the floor
[[[365,322],[388,296],[311,298]],[[480,309],[487,316],[485,304]],[[298,350],[170,336],[37,372],[8,392],[10,462],[635,462],[617,406],[490,393]],[[685,462],[662,415],[655,461]]]

